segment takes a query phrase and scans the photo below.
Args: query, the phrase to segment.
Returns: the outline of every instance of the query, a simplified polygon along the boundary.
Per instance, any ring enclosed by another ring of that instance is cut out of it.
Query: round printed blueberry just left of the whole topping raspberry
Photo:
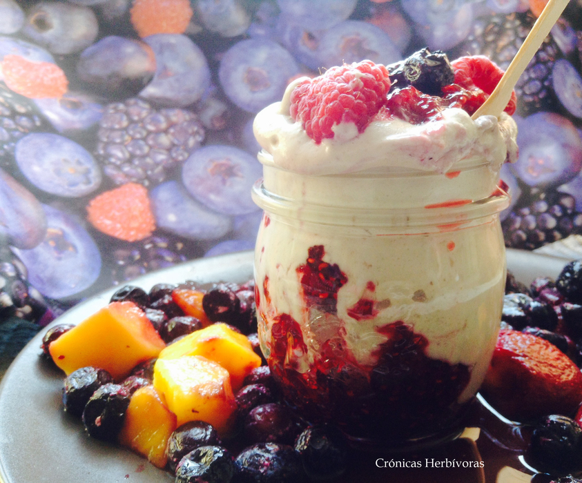
[[[299,66],[282,46],[267,39],[246,39],[224,53],[218,69],[224,93],[241,109],[259,112],[280,101]]]

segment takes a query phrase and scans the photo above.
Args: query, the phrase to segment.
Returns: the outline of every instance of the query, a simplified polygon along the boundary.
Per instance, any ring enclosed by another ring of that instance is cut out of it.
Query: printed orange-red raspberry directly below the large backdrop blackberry
[[[87,206],[88,221],[111,237],[137,242],[152,234],[155,219],[148,191],[128,183],[93,198]]]

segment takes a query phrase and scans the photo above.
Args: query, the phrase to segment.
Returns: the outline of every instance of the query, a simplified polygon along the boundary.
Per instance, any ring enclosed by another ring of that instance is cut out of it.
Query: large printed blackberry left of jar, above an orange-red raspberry
[[[106,106],[97,137],[96,158],[115,184],[150,186],[200,147],[204,128],[194,112],[131,98]]]

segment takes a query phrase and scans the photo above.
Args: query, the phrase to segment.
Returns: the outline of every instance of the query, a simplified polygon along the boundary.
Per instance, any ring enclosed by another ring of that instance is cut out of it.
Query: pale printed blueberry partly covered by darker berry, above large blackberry
[[[200,101],[211,84],[210,68],[202,50],[179,34],[155,34],[144,41],[155,54],[156,70],[139,96],[170,107]]]

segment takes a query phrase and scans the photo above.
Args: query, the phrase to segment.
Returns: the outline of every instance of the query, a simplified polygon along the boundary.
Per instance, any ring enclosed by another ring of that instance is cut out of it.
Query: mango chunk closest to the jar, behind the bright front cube
[[[186,335],[167,346],[158,357],[176,359],[183,355],[202,355],[220,364],[231,375],[233,391],[240,389],[246,375],[261,365],[261,358],[253,351],[246,335],[222,323]]]

